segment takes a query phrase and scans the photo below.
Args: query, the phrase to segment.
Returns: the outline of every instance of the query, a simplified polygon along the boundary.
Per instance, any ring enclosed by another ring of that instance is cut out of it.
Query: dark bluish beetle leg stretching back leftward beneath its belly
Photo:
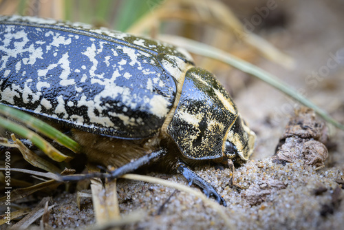
[[[102,173],[93,173],[93,174],[85,174],[85,175],[69,175],[69,176],[61,176],[61,181],[70,181],[70,180],[84,180],[89,178],[110,178],[115,179],[124,174],[128,174],[131,171],[135,171],[136,169],[148,165],[149,163],[153,162],[154,160],[158,160],[165,156],[167,150],[162,148],[156,151],[151,152],[150,154],[144,155],[136,160],[127,163],[127,165],[123,165],[114,171],[109,171],[109,174],[102,174]]]

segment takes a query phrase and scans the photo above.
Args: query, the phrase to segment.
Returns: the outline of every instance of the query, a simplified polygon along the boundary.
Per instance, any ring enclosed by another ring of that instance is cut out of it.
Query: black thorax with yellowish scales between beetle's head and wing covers
[[[186,158],[222,158],[228,129],[236,118],[237,108],[215,76],[193,67],[186,72],[167,133]]]

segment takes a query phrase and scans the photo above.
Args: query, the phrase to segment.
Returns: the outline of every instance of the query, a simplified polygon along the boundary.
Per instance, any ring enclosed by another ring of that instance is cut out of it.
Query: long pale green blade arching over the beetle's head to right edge
[[[327,114],[327,112],[323,111],[323,109],[309,101],[307,98],[299,94],[297,91],[292,90],[290,86],[279,80],[277,76],[274,76],[262,70],[256,65],[252,65],[247,61],[241,60],[236,56],[233,56],[231,54],[228,54],[227,52],[214,48],[211,45],[206,45],[204,43],[193,41],[191,39],[185,39],[180,36],[163,36],[162,39],[165,41],[169,41],[170,43],[174,43],[180,47],[183,47],[194,54],[199,54],[202,56],[207,56],[211,59],[222,61],[228,65],[237,68],[238,70],[241,70],[242,72],[246,72],[252,76],[255,76],[257,77],[257,79],[260,79],[261,81],[268,83],[269,85],[275,87],[284,94],[290,96],[291,98],[294,98],[296,101],[299,101],[299,103],[314,109],[314,112],[316,112],[316,114],[319,114],[319,116],[321,116],[325,121],[331,123],[339,129],[344,130],[344,125],[334,120],[329,114]]]

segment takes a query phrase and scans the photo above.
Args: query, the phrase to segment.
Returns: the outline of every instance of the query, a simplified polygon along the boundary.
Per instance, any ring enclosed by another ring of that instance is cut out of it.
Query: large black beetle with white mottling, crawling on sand
[[[0,17],[0,56],[0,103],[69,127],[89,160],[118,168],[109,177],[164,161],[225,205],[186,165],[252,154],[255,133],[224,87],[173,45],[12,16]]]

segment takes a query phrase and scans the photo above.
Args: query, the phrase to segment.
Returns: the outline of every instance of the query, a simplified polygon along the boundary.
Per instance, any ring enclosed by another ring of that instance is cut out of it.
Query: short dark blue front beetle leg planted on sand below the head
[[[200,187],[203,190],[203,193],[207,197],[213,196],[215,198],[215,200],[217,202],[219,202],[220,205],[222,204],[222,205],[224,205],[224,207],[227,206],[224,198],[222,198],[221,196],[219,196],[219,194],[217,194],[217,191],[213,188],[213,186],[209,185],[208,182],[206,182],[205,180],[200,178],[200,176],[195,174],[194,171],[192,171],[191,169],[186,167],[186,165],[184,163],[181,163],[180,161],[178,161],[177,171],[178,171],[178,173],[182,174],[184,176],[184,178],[186,178],[186,180],[188,180],[189,186],[192,184],[197,185],[198,187]]]

